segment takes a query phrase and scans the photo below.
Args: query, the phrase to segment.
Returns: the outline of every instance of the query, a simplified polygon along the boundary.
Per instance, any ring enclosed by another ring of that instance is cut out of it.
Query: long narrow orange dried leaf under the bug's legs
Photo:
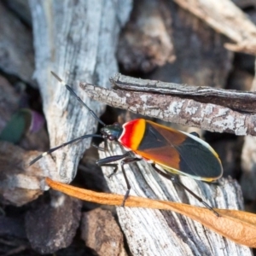
[[[124,195],[98,193],[87,189],[79,189],[64,183],[57,183],[49,178],[46,178],[46,182],[52,189],[84,201],[120,206],[124,199]],[[220,217],[217,217],[207,208],[137,196],[129,196],[125,201],[125,207],[143,207],[181,213],[205,225],[219,235],[229,238],[231,241],[247,247],[256,247],[256,215],[253,213],[214,209],[220,215]]]

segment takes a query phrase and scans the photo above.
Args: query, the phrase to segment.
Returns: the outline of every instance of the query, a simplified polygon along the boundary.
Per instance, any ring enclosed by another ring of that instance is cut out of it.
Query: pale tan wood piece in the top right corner
[[[256,26],[232,1],[174,0],[174,2],[236,42],[236,44],[225,44],[227,49],[256,54]]]

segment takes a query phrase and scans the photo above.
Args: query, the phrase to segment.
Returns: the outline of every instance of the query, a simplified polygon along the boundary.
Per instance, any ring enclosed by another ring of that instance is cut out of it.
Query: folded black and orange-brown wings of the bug
[[[200,138],[150,121],[136,153],[166,171],[205,181],[215,180],[223,172],[218,154]]]

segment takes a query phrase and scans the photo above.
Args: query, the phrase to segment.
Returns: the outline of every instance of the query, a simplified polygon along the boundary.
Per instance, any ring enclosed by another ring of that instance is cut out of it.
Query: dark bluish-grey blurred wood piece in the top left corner
[[[0,2],[0,68],[33,86],[32,32]]]

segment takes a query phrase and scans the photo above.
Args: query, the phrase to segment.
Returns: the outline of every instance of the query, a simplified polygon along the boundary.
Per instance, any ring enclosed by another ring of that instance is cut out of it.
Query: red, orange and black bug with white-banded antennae
[[[218,158],[218,154],[208,143],[201,140],[196,133],[177,131],[147,119],[134,119],[124,125],[120,125],[119,123],[106,125],[96,116],[96,113],[77,96],[68,84],[65,84],[55,73],[52,72],[52,74],[90,111],[90,114],[103,125],[103,128],[101,129],[101,134],[87,134],[67,143],[63,143],[58,147],[50,148],[49,151],[38,155],[37,158],[32,160],[29,163],[30,166],[45,155],[51,154],[59,148],[84,138],[102,137],[105,141],[105,148],[107,148],[107,141],[110,141],[119,143],[127,151],[125,154],[113,155],[96,161],[98,166],[113,167],[113,172],[109,175],[109,177],[111,177],[118,171],[118,164],[114,162],[121,160],[120,166],[127,185],[122,206],[125,205],[125,200],[128,198],[131,189],[124,166],[140,160],[147,160],[156,172],[182,186],[183,189],[187,190],[197,200],[201,201],[205,207],[219,216],[218,212],[209,206],[207,202],[203,201],[198,195],[195,195],[193,191],[188,189],[177,179],[177,175],[184,175],[193,177],[194,179],[212,182],[222,176],[223,168],[221,161]],[[105,150],[105,148],[99,149]],[[162,171],[160,167],[164,171]]]

